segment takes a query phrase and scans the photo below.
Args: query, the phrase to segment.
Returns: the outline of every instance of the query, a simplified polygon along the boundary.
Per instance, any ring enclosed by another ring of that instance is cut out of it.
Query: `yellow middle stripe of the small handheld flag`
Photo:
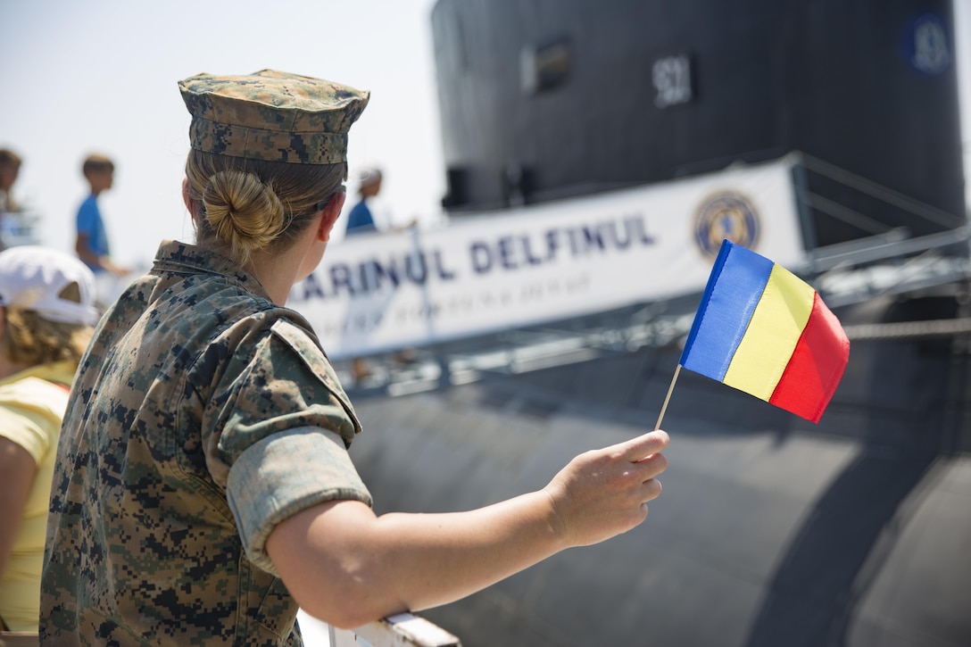
[[[768,401],[813,312],[816,290],[775,265],[723,382]]]

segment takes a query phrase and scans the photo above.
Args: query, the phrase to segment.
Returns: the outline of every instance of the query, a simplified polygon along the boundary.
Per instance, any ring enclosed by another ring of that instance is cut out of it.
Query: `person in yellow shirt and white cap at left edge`
[[[38,629],[57,439],[97,321],[95,291],[72,255],[0,253],[0,631]]]

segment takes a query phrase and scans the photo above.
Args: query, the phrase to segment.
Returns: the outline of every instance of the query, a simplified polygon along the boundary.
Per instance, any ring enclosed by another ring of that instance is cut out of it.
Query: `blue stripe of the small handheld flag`
[[[721,243],[681,354],[682,366],[724,380],[774,264],[730,241]]]

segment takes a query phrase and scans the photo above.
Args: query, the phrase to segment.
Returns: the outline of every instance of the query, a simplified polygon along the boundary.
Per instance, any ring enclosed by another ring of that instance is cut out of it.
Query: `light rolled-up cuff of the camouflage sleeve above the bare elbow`
[[[229,470],[226,494],[247,557],[274,574],[266,539],[277,524],[324,501],[372,503],[341,436],[308,427],[275,433],[243,452]]]

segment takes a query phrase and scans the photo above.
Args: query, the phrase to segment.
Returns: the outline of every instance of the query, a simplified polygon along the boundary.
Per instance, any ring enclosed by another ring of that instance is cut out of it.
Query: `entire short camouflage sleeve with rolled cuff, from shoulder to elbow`
[[[285,320],[248,325],[211,345],[228,368],[206,403],[202,440],[247,557],[275,574],[265,543],[277,524],[323,501],[371,505],[371,494],[347,451],[360,424],[316,339]]]

